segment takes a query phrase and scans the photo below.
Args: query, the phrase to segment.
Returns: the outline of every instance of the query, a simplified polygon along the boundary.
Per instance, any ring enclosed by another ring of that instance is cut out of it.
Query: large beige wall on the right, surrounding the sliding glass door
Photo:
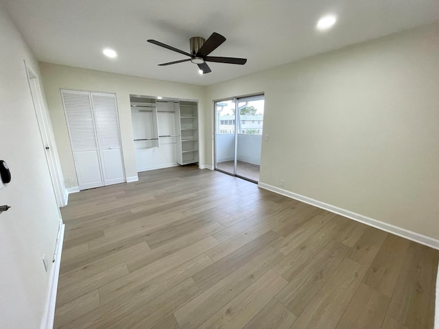
[[[205,135],[263,91],[261,182],[439,239],[438,54],[436,23],[209,86]]]

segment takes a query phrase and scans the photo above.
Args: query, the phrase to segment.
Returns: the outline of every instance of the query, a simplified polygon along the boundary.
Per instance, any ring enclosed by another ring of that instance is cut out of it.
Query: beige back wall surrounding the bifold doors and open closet
[[[116,93],[123,147],[123,162],[125,164],[127,178],[137,176],[132,135],[130,94],[179,99],[199,99],[200,131],[204,131],[202,125],[204,122],[203,114],[206,112],[203,103],[204,87],[47,63],[40,63],[40,70],[43,75],[47,106],[49,107],[50,117],[54,125],[54,134],[56,144],[58,145],[62,173],[64,174],[67,187],[78,186],[78,181],[73,163],[64,110],[62,108],[60,88]],[[201,136],[200,150],[205,148],[203,141],[204,138]],[[203,152],[200,151],[200,164],[204,164],[203,156]],[[71,182],[71,180],[73,180],[73,182]]]

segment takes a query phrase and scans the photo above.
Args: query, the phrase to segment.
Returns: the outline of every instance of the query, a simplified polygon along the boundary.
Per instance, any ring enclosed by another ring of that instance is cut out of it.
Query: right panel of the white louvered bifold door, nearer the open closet
[[[104,184],[126,182],[115,94],[91,93]]]

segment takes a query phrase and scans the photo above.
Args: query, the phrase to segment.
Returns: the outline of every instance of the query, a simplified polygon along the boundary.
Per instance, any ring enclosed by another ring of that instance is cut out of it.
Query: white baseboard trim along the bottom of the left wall
[[[49,278],[49,291],[47,293],[45,315],[41,321],[41,329],[52,329],[54,328],[54,318],[55,318],[55,304],[56,304],[56,292],[58,290],[58,278],[60,276],[60,265],[61,265],[61,252],[62,243],[64,242],[64,230],[65,225],[62,224],[59,235],[58,235],[58,247],[56,248],[55,254],[56,258],[54,263],[52,263],[50,278]]]

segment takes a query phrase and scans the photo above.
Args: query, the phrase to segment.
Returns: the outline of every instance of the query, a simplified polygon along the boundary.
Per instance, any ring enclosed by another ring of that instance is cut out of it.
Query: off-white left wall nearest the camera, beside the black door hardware
[[[0,45],[0,159],[12,173],[0,190],[0,204],[11,206],[0,215],[0,327],[34,329],[45,314],[60,215],[23,60],[40,77],[38,62],[1,7]]]

